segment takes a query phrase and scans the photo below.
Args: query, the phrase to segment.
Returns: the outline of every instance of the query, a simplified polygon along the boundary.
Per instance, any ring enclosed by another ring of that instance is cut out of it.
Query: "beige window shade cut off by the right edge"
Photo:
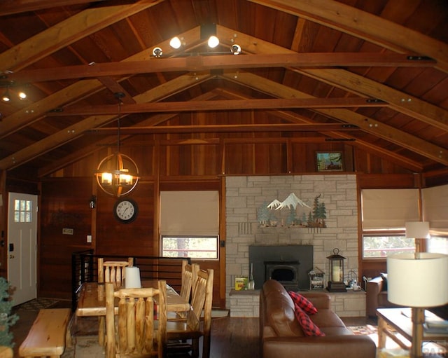
[[[430,230],[448,234],[448,185],[424,188],[421,191],[423,220]]]

